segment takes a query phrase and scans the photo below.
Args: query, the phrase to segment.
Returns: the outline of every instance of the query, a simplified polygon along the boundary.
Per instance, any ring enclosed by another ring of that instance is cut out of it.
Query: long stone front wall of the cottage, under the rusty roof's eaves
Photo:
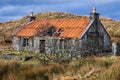
[[[23,38],[29,38],[29,46],[23,46]],[[45,40],[45,53],[58,53],[61,55],[80,55],[81,40],[79,39],[62,39],[49,36],[43,37],[13,37],[13,49],[18,51],[29,51],[40,53],[40,40]],[[61,46],[61,47],[60,47]]]

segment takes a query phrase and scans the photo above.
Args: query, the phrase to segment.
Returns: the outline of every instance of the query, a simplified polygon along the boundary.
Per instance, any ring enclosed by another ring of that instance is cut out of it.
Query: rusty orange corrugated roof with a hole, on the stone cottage
[[[16,36],[35,36],[42,32],[44,28],[54,26],[56,31],[60,28],[63,32],[58,37],[63,38],[78,38],[82,35],[88,25],[88,18],[73,18],[73,19],[40,19],[35,20],[16,33]]]

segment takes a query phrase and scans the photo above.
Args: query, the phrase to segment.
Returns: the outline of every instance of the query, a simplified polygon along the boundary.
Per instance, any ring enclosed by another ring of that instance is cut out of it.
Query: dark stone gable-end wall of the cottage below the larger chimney
[[[102,53],[109,49],[110,38],[101,23],[94,22],[83,36],[81,43],[83,52]]]

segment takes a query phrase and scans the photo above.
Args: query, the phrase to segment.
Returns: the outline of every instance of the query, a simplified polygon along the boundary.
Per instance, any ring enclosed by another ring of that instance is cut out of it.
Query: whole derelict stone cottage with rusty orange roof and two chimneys
[[[110,36],[96,9],[90,17],[39,19],[29,22],[13,35],[13,49],[36,53],[96,54],[109,51]]]

